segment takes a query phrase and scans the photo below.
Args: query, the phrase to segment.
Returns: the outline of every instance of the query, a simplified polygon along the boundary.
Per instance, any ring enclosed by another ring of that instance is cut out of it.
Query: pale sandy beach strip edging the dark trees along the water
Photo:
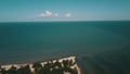
[[[42,66],[44,66],[46,64],[48,64],[49,62],[52,62],[52,63],[55,63],[55,62],[60,62],[60,63],[63,63],[63,61],[72,61],[72,63],[76,62],[76,57],[68,57],[68,58],[62,58],[62,59],[58,59],[58,60],[52,60],[52,61],[47,61],[47,62],[40,62],[40,64]],[[1,69],[4,69],[5,71],[9,71],[12,66],[16,67],[16,70],[21,69],[21,67],[24,67],[26,65],[29,65],[29,69],[31,71],[32,74],[35,74],[36,72],[36,69],[34,67],[34,63],[30,63],[30,64],[8,64],[8,65],[1,65]],[[62,64],[63,66],[64,64]],[[65,65],[64,65],[65,66]],[[80,67],[78,66],[77,63],[75,63],[74,65],[70,66],[70,69],[76,69],[77,70],[77,74],[81,74],[81,71],[80,71]],[[2,70],[1,70],[2,71]],[[68,72],[64,72],[64,74],[70,74]]]

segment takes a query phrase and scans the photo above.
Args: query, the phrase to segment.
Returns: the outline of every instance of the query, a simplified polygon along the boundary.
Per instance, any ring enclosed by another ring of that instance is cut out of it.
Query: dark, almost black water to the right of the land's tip
[[[93,70],[101,71],[100,74],[130,74],[129,49],[130,46],[126,46],[118,50],[116,49],[90,57],[83,57],[81,60],[87,67],[87,72],[89,72],[88,74],[99,74],[96,71],[95,73],[91,73]],[[86,74],[86,70],[83,71]]]

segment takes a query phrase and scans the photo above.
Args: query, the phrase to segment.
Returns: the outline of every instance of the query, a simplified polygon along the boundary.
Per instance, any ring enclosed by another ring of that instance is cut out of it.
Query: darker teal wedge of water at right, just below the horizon
[[[104,24],[105,23],[105,24]],[[130,39],[130,21],[120,21],[120,22],[104,22],[98,25],[94,25],[98,28],[113,32],[115,34],[120,34]]]

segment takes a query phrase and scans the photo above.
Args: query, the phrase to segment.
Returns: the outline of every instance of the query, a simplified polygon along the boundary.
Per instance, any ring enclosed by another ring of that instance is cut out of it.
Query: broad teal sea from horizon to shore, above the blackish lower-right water
[[[87,55],[130,44],[130,22],[0,23],[0,63]]]

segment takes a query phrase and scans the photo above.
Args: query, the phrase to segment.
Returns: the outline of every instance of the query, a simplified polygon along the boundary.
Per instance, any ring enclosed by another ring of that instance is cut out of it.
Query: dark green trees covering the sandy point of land
[[[60,60],[48,61],[43,64],[36,62],[32,64],[34,71],[29,65],[21,66],[20,69],[12,65],[9,70],[0,67],[0,74],[78,74],[76,62],[73,60]]]

